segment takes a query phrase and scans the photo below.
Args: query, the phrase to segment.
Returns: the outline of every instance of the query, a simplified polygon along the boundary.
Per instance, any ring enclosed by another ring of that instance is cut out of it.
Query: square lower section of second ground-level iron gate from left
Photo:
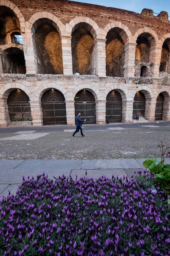
[[[43,125],[66,125],[65,102],[42,102]]]

